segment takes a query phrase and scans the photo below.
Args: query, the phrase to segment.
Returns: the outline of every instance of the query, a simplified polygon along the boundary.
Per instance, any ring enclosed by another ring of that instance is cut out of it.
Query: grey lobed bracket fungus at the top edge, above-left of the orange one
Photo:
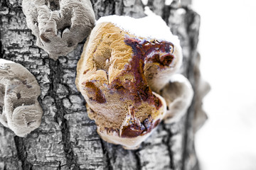
[[[36,45],[53,60],[74,50],[95,24],[90,0],[23,0],[22,6]]]

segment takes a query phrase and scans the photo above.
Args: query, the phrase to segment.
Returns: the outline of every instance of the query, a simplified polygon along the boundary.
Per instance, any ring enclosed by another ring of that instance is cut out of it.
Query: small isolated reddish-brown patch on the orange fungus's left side
[[[106,103],[106,98],[102,91],[94,84],[92,81],[87,81],[82,83],[87,88],[87,91],[92,94],[93,97],[90,97],[90,100],[96,101],[97,103]]]

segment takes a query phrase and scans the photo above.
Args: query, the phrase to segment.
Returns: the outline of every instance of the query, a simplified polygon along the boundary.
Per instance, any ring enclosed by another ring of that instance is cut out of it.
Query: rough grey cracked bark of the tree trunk
[[[141,1],[92,0],[92,4],[96,18],[112,14],[144,16]],[[41,86],[38,100],[43,108],[40,128],[25,138],[0,125],[0,169],[198,169],[193,147],[195,100],[180,122],[161,123],[137,150],[128,151],[104,142],[75,87],[75,69],[84,42],[54,61],[36,47],[36,39],[26,26],[21,0],[1,0],[0,5],[0,57],[22,64],[36,77]],[[200,17],[175,1],[165,6],[164,0],[151,0],[148,5],[180,38],[182,73],[197,93],[198,72],[194,67]]]

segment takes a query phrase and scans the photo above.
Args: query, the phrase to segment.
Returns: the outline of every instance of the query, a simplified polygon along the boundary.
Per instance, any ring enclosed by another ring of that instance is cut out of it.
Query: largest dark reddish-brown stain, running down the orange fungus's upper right
[[[155,106],[157,110],[161,108],[162,103],[152,94],[149,85],[144,76],[144,64],[146,62],[158,63],[159,67],[168,67],[174,60],[174,45],[166,41],[139,40],[137,38],[124,38],[126,45],[132,47],[132,60],[124,68],[121,76],[124,74],[132,74],[134,81],[114,79],[110,84],[110,89],[116,89],[117,93],[122,94],[122,100],[132,100],[137,105],[142,101],[148,102],[151,106]]]

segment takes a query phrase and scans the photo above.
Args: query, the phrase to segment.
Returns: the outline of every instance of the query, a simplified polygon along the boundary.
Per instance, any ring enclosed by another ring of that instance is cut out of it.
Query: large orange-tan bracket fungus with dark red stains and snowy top
[[[160,16],[100,18],[75,82],[100,137],[125,149],[139,147],[166,116],[159,92],[181,62],[179,40]]]

